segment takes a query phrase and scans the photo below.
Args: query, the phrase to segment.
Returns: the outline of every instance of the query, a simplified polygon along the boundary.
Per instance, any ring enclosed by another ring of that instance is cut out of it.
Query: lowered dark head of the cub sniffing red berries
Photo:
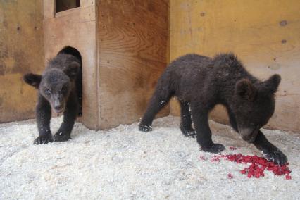
[[[246,142],[254,142],[259,129],[273,115],[274,94],[280,80],[280,75],[273,75],[264,82],[251,82],[248,79],[237,81],[232,112],[235,114],[238,132]]]

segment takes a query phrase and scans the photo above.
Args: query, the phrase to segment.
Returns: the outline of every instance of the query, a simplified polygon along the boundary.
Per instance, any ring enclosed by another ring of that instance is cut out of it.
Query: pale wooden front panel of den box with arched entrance
[[[49,0],[44,0],[49,3]],[[51,0],[54,1],[54,0]],[[45,7],[45,13],[54,10]],[[79,8],[56,13],[44,20],[46,61],[56,56],[63,46],[73,46],[82,56],[82,123],[99,130],[99,85],[96,69],[96,19],[94,1],[84,1]]]

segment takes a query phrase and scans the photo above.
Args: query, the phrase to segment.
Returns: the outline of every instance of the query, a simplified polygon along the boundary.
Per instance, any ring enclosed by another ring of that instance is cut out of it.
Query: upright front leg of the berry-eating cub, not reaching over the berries
[[[211,129],[208,125],[208,111],[204,111],[204,109],[199,108],[199,106],[191,106],[191,108],[197,142],[201,146],[202,151],[217,154],[225,150],[223,144],[213,143],[211,139]]]

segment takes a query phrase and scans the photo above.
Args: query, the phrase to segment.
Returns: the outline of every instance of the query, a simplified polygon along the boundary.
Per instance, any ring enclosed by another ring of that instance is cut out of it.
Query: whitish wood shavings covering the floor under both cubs
[[[53,132],[61,120],[51,121]],[[98,132],[76,123],[68,142],[39,146],[35,120],[1,124],[0,199],[300,199],[300,134],[263,130],[287,155],[292,180],[270,172],[249,179],[239,173],[246,165],[211,162],[179,124],[159,118],[144,133],[137,123]],[[211,128],[223,154],[261,156],[230,127],[211,121]]]

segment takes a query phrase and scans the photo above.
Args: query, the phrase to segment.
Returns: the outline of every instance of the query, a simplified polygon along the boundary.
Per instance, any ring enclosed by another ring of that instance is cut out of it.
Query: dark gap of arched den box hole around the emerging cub
[[[77,89],[78,101],[80,104],[80,111],[78,113],[78,116],[82,116],[82,57],[81,57],[81,54],[77,49],[75,49],[72,46],[63,47],[63,49],[61,49],[61,51],[58,52],[58,54],[60,54],[60,53],[71,54],[71,55],[75,56],[80,62],[80,71],[76,78],[76,89]]]

